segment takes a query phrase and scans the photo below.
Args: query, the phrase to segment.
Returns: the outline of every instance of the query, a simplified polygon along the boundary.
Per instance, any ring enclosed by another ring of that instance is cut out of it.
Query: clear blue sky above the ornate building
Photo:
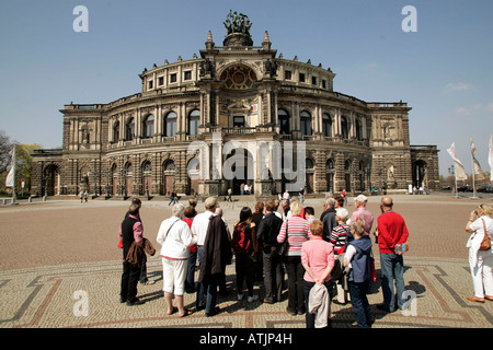
[[[76,33],[73,8],[89,10]],[[405,5],[417,32],[405,33]],[[0,130],[21,143],[61,145],[70,102],[108,103],[141,90],[138,74],[222,45],[229,10],[249,15],[254,45],[268,31],[284,58],[330,67],[334,91],[367,102],[406,102],[412,144],[437,144],[448,175],[451,142],[471,172],[470,139],[484,171],[493,133],[493,1],[458,0],[2,0]]]

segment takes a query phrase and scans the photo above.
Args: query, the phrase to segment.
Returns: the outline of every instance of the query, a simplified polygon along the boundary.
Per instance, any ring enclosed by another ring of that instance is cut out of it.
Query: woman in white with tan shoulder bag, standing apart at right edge
[[[488,234],[490,241],[493,236],[493,208],[481,205],[472,211],[466,225],[466,232],[471,233],[467,247],[469,248],[469,266],[471,268],[472,284],[474,287],[474,296],[467,298],[471,302],[484,303],[484,299],[493,301],[493,252],[480,250],[484,234]]]

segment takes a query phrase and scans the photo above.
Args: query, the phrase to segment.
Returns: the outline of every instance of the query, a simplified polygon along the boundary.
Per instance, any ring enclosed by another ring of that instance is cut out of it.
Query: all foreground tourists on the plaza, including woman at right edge
[[[195,311],[205,310],[207,317],[218,314],[218,289],[226,292],[226,267],[234,261],[238,301],[280,302],[287,272],[286,311],[294,316],[305,314],[308,328],[331,327],[332,302],[351,302],[358,327],[371,327],[374,319],[367,299],[375,281],[371,234],[381,265],[383,302],[377,308],[387,313],[403,310],[402,253],[406,250],[408,228],[404,219],[393,211],[392,198],[386,196],[381,198],[380,214],[371,232],[374,214],[366,208],[367,200],[364,195],[356,197],[355,210],[349,215],[343,197],[329,196],[320,218],[316,218],[312,207],[303,207],[298,197],[259,201],[254,211],[249,207],[240,210],[231,232],[215,197],[204,201],[202,213],[196,211],[195,199],[186,208],[175,203],[157,237],[161,245],[167,313],[177,313],[180,317],[192,313],[184,306],[186,292],[196,293]],[[141,303],[136,298],[141,261],[146,253],[153,254],[153,247],[142,237],[139,208],[133,203],[121,226],[125,259],[121,302],[127,305]],[[482,228],[493,231],[489,206],[471,213],[466,231],[477,233]],[[481,235],[473,234],[468,244],[475,291],[469,300],[475,302],[493,299],[491,249],[489,254],[475,249],[480,238]],[[134,246],[141,253],[133,253]],[[195,281],[197,266],[199,273]],[[264,284],[262,298],[255,294],[255,280]]]

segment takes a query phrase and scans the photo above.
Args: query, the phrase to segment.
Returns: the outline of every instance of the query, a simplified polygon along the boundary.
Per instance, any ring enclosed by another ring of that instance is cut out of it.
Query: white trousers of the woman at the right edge
[[[474,287],[474,296],[484,298],[484,294],[493,296],[493,254],[491,250],[479,250],[478,264],[475,266],[474,262],[474,255],[469,249],[469,267]]]

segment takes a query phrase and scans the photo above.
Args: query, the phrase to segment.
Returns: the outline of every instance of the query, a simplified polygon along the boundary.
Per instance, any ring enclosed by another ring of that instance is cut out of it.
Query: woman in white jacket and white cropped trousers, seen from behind
[[[157,238],[158,243],[162,245],[162,278],[168,306],[167,314],[171,315],[176,311],[172,301],[174,294],[180,317],[191,314],[185,310],[183,294],[190,255],[188,247],[197,243],[197,236],[192,234],[186,222],[182,221],[184,211],[183,205],[174,205],[172,217],[161,223]]]

